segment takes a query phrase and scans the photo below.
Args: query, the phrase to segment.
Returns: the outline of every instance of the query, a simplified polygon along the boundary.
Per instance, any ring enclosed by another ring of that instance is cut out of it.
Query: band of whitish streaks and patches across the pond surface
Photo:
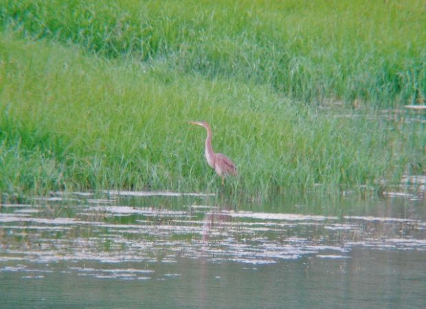
[[[68,216],[61,208],[65,196],[38,198],[37,205],[1,205],[0,271],[34,271],[25,264],[52,265],[65,261],[70,265],[68,271],[77,275],[146,280],[156,275],[152,269],[117,266],[140,262],[149,268],[155,264],[176,264],[179,258],[253,265],[304,256],[347,259],[353,247],[426,250],[426,223],[418,219],[232,211],[209,205],[175,210],[116,204],[120,196],[208,194],[108,194],[114,198],[97,199],[93,194],[76,192],[82,199],[74,205],[74,199],[67,200],[71,203],[67,206]],[[100,262],[108,269],[76,266],[90,262]],[[7,263],[14,266],[5,266]],[[43,279],[37,274],[25,276]],[[162,275],[163,279],[179,276]]]

